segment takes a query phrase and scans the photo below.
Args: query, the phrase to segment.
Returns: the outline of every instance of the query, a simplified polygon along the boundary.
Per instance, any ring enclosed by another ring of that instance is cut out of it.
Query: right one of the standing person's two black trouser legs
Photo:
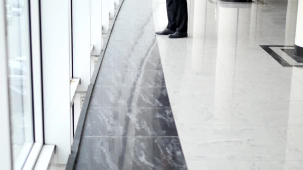
[[[175,2],[175,12],[176,12],[176,31],[187,32],[187,1],[186,0],[174,0]]]

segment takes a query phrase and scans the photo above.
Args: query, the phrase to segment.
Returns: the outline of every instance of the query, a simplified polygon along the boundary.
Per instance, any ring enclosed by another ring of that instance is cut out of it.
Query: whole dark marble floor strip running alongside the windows
[[[187,170],[152,0],[125,0],[89,103],[76,170]]]

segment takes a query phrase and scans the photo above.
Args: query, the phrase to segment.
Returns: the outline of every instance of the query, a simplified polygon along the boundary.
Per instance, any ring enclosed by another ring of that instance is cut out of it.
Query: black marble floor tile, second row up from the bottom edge
[[[97,108],[88,111],[84,136],[178,136],[171,109]]]

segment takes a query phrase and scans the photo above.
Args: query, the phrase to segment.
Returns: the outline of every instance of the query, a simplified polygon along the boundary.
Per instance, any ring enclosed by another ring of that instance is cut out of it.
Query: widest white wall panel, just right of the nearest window
[[[70,1],[41,0],[45,143],[56,145],[55,164],[71,151]]]

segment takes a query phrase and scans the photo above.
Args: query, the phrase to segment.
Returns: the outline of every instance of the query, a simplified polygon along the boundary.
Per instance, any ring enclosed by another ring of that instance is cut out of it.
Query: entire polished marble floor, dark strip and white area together
[[[298,0],[187,2],[168,39],[165,0],[125,0],[76,169],[303,170],[303,68],[262,48],[294,45]]]

